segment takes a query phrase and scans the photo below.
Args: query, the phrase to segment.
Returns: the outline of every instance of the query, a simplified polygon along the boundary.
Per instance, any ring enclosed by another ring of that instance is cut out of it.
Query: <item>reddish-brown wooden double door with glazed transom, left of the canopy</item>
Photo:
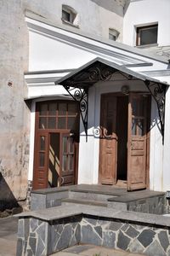
[[[77,183],[78,128],[75,102],[37,103],[33,189]]]

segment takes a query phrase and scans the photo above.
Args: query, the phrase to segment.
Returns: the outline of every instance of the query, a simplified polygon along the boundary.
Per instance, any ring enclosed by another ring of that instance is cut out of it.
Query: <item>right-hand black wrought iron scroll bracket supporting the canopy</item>
[[[149,80],[145,80],[144,84],[146,84],[148,90],[150,90],[150,94],[156,101],[160,124],[161,124],[161,135],[162,140],[164,140],[164,125],[165,125],[165,96],[167,87],[165,84],[159,83],[150,83]]]

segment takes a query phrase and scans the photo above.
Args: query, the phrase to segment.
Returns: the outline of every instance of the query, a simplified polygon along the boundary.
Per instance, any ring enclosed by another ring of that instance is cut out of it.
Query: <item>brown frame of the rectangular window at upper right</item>
[[[153,44],[140,44],[140,41],[141,41],[140,32],[144,31],[144,30],[150,30],[150,29],[153,29],[153,28],[157,28],[157,38],[158,38],[158,23],[152,24],[152,25],[147,25],[147,26],[136,26],[136,46],[144,47],[144,46],[157,45],[157,38],[156,38],[156,43],[153,43]]]

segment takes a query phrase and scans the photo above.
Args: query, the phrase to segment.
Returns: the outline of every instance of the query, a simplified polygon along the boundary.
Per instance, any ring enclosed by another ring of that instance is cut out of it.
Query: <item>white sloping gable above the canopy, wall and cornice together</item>
[[[132,67],[134,71],[143,72],[151,69],[161,70],[167,67],[162,61],[156,61],[143,55],[143,50],[133,53],[126,45],[116,42],[99,41],[74,32],[67,32],[41,21],[26,18],[29,28],[29,71],[57,70],[81,67],[96,56],[113,61],[116,64],[150,63],[153,66]],[[29,25],[30,26],[30,25]],[[165,78],[166,79],[166,78]]]

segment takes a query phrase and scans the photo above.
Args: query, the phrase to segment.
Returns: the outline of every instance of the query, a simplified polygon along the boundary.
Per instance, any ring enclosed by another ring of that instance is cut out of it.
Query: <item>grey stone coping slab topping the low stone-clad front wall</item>
[[[130,212],[120,211],[116,208],[94,207],[94,206],[78,206],[71,204],[71,206],[59,206],[48,209],[37,210],[33,212],[23,212],[14,215],[17,218],[38,218],[44,221],[53,221],[61,218],[69,218],[77,215],[92,215],[98,218],[115,218],[122,219],[129,222],[137,222],[140,224],[154,224],[158,226],[170,227],[170,218],[162,215],[144,213],[144,212]]]

